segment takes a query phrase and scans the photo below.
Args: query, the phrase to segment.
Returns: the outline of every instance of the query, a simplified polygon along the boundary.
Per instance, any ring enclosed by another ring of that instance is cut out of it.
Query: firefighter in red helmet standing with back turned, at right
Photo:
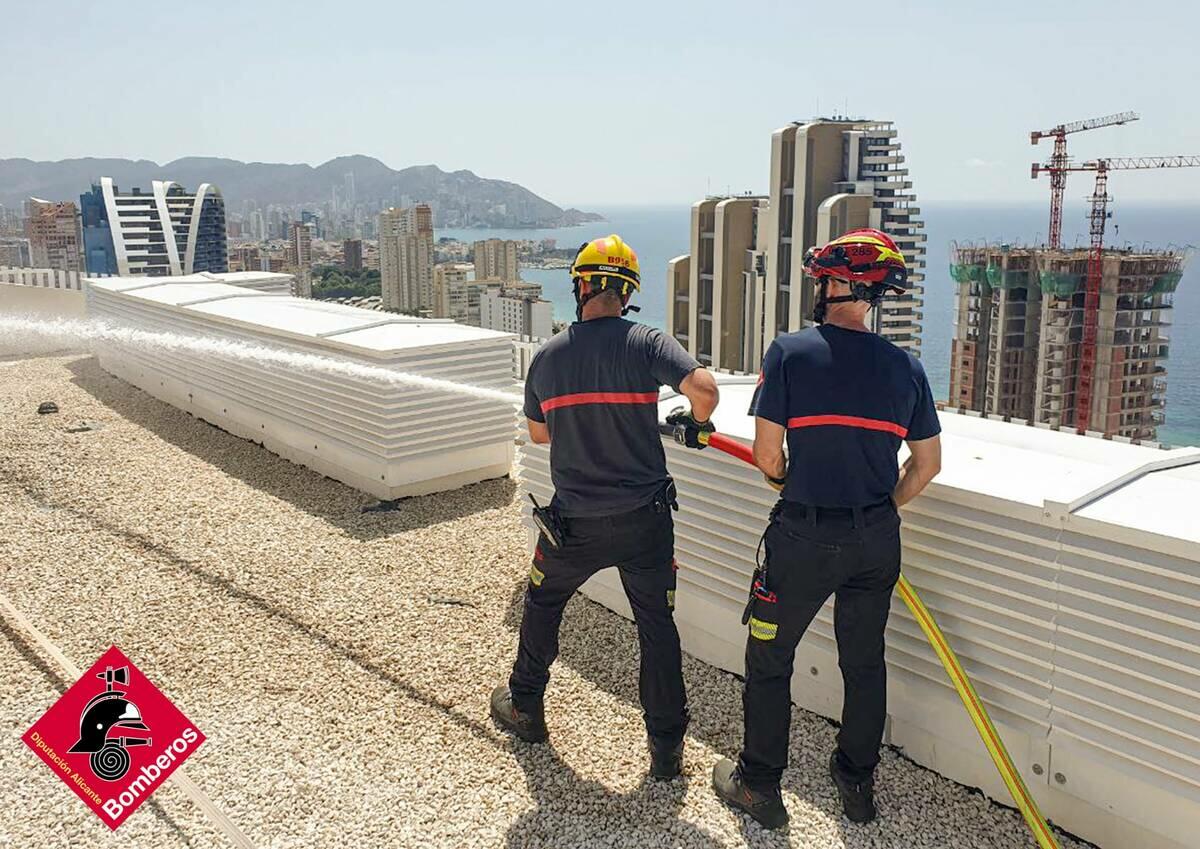
[[[941,469],[941,427],[920,361],[866,325],[888,293],[908,288],[895,242],[853,230],[809,251],[804,270],[817,285],[816,326],[770,344],[751,410],[755,463],[781,498],[744,618],[742,753],[713,770],[718,795],[767,827],[787,823],[779,782],[796,648],[830,595],[845,700],[829,771],[846,817],[875,818],[883,630],[900,577],[896,507]],[[902,468],[901,442],[910,450]]]

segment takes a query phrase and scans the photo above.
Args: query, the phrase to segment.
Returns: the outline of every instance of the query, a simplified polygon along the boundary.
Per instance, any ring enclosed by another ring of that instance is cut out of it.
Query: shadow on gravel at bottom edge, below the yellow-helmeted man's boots
[[[553,745],[514,740],[511,746],[536,807],[509,826],[508,849],[659,845],[667,836],[673,847],[724,845],[679,819],[688,776],[664,782],[646,776],[635,790],[619,794],[580,778]]]

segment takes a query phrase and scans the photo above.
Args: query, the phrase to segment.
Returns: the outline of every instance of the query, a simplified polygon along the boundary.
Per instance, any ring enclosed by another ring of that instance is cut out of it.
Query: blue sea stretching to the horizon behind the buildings
[[[922,203],[925,222],[926,269],[922,362],[938,398],[949,395],[950,338],[954,335],[954,288],[949,254],[955,242],[1042,243],[1049,218],[1048,204],[972,205]],[[620,234],[637,251],[642,267],[642,293],[635,303],[641,321],[662,327],[666,321],[667,261],[688,253],[691,209],[686,204],[612,206],[594,209],[604,222],[546,230],[439,229],[437,237],[554,239],[559,247],[610,233]],[[1069,205],[1063,211],[1063,245],[1088,243],[1086,209]],[[1114,247],[1188,247],[1200,245],[1200,204],[1151,205],[1117,203],[1108,223],[1105,242]],[[544,297],[554,305],[554,318],[571,320],[575,301],[565,270],[522,269],[521,276],[542,284]],[[1175,294],[1170,320],[1170,356],[1166,361],[1166,423],[1158,429],[1170,445],[1200,445],[1200,270],[1186,267]]]

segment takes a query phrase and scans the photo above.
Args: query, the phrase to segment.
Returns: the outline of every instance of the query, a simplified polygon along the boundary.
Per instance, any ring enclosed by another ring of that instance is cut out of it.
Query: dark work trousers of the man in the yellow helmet
[[[620,583],[634,609],[642,668],[638,694],[650,736],[673,745],[688,727],[679,632],[674,625],[674,523],[664,504],[596,518],[564,518],[562,548],[538,540],[521,645],[509,688],[518,709],[540,706],[550,664],[558,656],[558,627],[571,595],[595,572],[620,570]]]

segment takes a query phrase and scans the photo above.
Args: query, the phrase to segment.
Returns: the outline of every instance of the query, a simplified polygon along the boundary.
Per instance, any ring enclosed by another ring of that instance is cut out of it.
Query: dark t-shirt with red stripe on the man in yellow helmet
[[[622,318],[576,321],[534,355],[526,417],[550,428],[553,505],[564,516],[616,516],[667,481],[659,387],[700,363],[672,337]]]

